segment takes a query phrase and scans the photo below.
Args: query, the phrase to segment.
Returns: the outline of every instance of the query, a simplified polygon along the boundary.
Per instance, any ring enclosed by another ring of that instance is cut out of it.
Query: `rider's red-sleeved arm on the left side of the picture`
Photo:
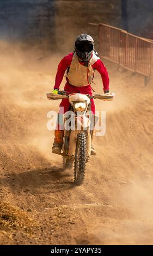
[[[59,89],[59,86],[63,80],[64,73],[65,73],[66,69],[68,69],[68,67],[71,64],[72,57],[73,57],[73,53],[71,52],[67,56],[65,56],[62,60],[60,60],[60,63],[58,65],[58,69],[57,69],[56,78],[55,78],[54,89]]]

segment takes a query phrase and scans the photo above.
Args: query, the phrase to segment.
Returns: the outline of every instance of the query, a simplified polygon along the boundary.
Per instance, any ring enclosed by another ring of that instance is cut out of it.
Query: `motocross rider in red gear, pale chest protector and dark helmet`
[[[87,34],[78,35],[75,40],[75,51],[65,56],[58,65],[55,85],[52,93],[58,94],[60,84],[62,83],[63,76],[66,71],[66,84],[64,87],[66,92],[92,95],[91,82],[93,80],[95,70],[97,70],[101,75],[104,93],[108,93],[109,77],[107,69],[94,49],[93,38]],[[69,111],[69,99],[63,99],[59,107],[60,109],[63,107],[64,113]],[[93,99],[91,99],[91,111],[95,114],[95,104]],[[61,153],[63,137],[64,131],[60,130],[58,124],[54,131],[52,153]],[[91,155],[96,155],[93,144],[91,144]]]

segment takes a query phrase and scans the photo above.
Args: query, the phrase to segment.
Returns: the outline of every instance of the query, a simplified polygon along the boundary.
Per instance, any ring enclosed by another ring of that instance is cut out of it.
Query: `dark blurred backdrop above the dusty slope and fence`
[[[66,51],[78,34],[102,22],[153,39],[152,0],[1,0],[0,39]]]

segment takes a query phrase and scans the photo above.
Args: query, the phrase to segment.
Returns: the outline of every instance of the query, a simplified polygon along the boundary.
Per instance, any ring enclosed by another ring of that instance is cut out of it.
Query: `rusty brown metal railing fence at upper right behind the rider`
[[[90,23],[92,24],[92,23]],[[125,69],[153,78],[153,42],[106,24],[99,26],[99,54]]]

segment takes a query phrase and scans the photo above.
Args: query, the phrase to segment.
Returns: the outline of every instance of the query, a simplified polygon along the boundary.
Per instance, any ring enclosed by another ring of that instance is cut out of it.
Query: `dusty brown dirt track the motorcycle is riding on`
[[[34,227],[1,228],[0,243],[152,244],[152,81],[144,87],[143,77],[105,62],[116,97],[96,101],[106,110],[106,136],[95,138],[97,156],[76,187],[51,154],[46,128],[47,112],[58,109],[45,94],[60,56],[1,47],[1,202],[26,212]],[[96,81],[98,93],[99,75]]]

